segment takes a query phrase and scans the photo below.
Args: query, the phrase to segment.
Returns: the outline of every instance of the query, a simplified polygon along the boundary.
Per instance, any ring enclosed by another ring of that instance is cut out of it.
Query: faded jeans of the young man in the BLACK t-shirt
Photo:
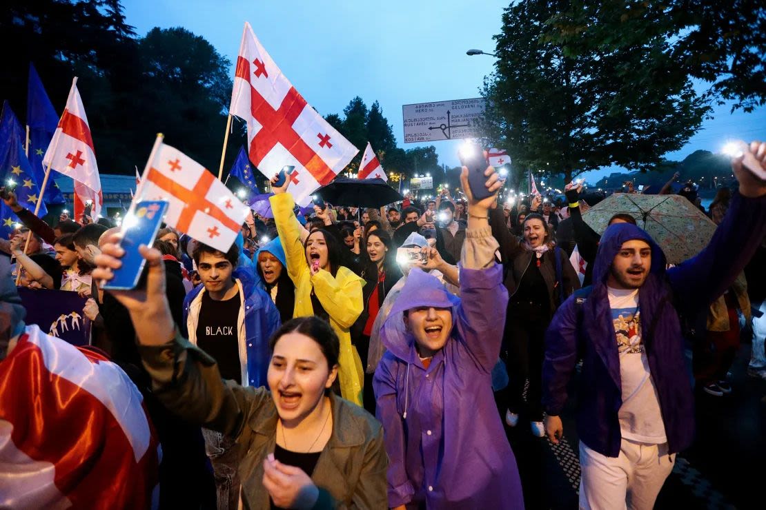
[[[240,491],[237,472],[239,445],[231,437],[215,430],[203,428],[202,436],[205,437],[205,453],[213,466],[218,510],[237,510]]]

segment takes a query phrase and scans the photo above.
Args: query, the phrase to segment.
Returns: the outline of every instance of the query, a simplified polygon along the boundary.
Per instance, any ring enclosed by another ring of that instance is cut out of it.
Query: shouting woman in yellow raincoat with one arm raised
[[[364,308],[364,280],[342,265],[345,248],[332,233],[315,229],[305,243],[301,242],[300,223],[293,213],[295,203],[287,193],[289,186],[290,180],[281,187],[272,186],[274,195],[269,200],[285,252],[287,274],[295,284],[293,317],[316,315],[329,321],[340,340],[341,396],[361,406],[364,372],[350,330]]]

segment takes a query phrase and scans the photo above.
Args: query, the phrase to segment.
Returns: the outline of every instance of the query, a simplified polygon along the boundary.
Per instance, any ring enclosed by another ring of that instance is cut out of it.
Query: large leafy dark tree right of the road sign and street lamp
[[[666,57],[667,41],[625,30],[571,54],[549,24],[571,2],[506,8],[485,80],[486,134],[516,167],[566,179],[610,164],[647,170],[681,148],[709,106]],[[595,9],[595,7],[594,7]]]

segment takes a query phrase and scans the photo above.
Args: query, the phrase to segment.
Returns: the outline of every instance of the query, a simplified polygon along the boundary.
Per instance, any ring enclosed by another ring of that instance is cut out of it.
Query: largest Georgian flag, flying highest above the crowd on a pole
[[[250,28],[244,24],[237,57],[231,115],[247,122],[250,161],[272,178],[285,165],[290,193],[306,206],[311,193],[328,184],[358,153],[282,74]]]

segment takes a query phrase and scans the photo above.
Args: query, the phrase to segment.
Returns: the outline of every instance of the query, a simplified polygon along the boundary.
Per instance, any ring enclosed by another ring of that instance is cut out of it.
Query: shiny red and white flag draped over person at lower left
[[[0,508],[152,508],[161,456],[123,369],[26,327],[0,362]]]

